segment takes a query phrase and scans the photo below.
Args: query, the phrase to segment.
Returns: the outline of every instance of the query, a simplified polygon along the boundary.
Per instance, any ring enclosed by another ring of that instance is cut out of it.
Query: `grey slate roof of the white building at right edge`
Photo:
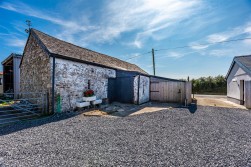
[[[228,73],[226,75],[226,78],[230,74],[234,64],[238,64],[244,71],[246,71],[249,75],[251,75],[251,55],[245,55],[245,56],[235,56],[232,64],[228,70]]]

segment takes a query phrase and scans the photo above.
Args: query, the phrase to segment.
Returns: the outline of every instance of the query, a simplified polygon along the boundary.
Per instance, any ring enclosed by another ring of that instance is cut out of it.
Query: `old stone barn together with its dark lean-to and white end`
[[[51,112],[58,111],[59,105],[60,111],[75,109],[87,89],[103,101],[142,104],[150,100],[150,75],[137,65],[36,29],[29,31],[20,71],[21,92],[47,92]]]

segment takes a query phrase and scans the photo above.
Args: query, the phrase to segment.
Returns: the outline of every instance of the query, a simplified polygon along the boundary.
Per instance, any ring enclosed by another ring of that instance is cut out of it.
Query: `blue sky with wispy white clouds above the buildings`
[[[156,74],[169,78],[225,75],[234,56],[251,54],[251,40],[193,46],[251,37],[250,0],[1,0],[0,18],[1,61],[23,52],[27,19],[149,73],[151,53],[142,54],[163,49],[155,52]]]

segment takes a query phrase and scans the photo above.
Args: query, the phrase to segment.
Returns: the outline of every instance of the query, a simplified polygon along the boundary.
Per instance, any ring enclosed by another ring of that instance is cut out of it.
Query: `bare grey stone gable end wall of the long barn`
[[[31,35],[20,66],[20,91],[44,92],[51,90],[50,58]]]

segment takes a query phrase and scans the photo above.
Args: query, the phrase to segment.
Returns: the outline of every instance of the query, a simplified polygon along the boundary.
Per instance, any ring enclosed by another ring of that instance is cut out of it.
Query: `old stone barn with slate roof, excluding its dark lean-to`
[[[30,29],[20,70],[21,92],[48,92],[52,106],[60,95],[62,111],[74,109],[86,89],[94,90],[98,99],[108,98],[108,80],[116,78],[117,71],[148,75],[134,64],[35,29]]]

